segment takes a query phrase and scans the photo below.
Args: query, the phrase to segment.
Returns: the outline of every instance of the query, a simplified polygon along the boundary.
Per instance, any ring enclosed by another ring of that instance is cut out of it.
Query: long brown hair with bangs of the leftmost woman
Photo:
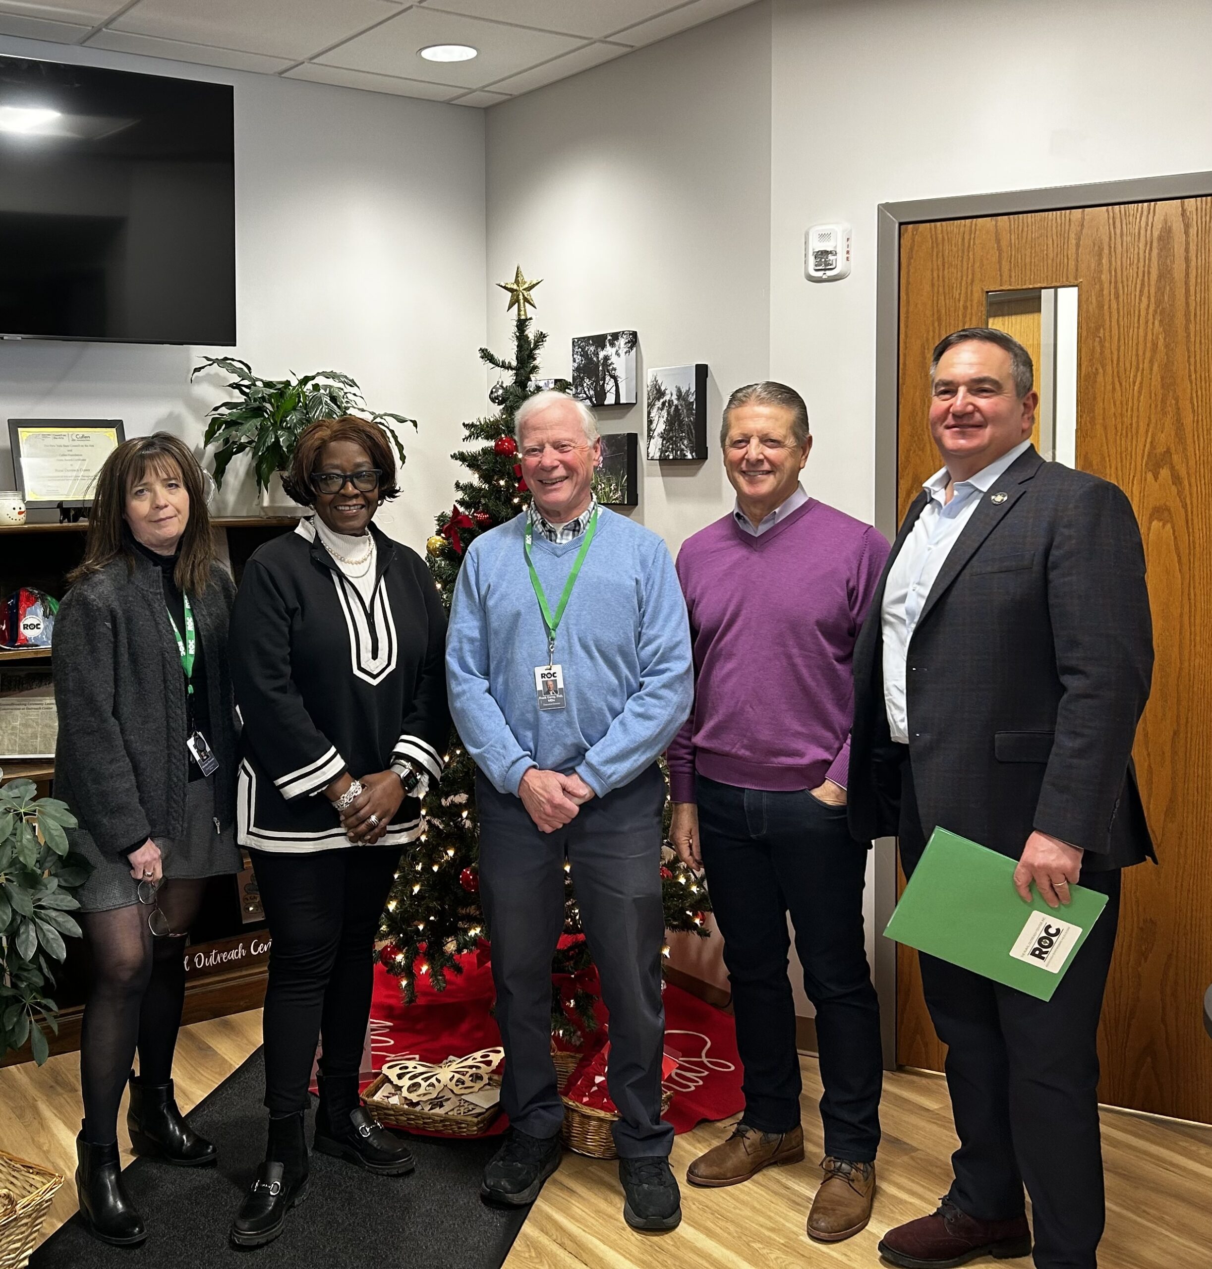
[[[123,513],[131,490],[148,472],[159,476],[179,475],[185,486],[189,519],[181,534],[174,579],[189,595],[199,595],[206,590],[211,581],[211,566],[214,563],[214,542],[211,538],[211,514],[206,505],[202,468],[189,447],[166,431],[124,440],[105,459],[96,477],[96,492],[89,511],[84,560],[67,575],[69,582],[99,572],[119,557],[126,558],[131,571],[135,570],[135,546]]]

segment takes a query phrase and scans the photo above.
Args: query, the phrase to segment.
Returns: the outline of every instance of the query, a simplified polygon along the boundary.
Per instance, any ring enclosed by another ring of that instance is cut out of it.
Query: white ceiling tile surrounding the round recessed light
[[[503,27],[430,9],[409,9],[316,61],[379,75],[484,88],[492,80],[515,75],[581,43],[571,36]],[[470,62],[426,62],[418,56],[418,51],[428,44],[471,44],[480,49],[480,56]]]

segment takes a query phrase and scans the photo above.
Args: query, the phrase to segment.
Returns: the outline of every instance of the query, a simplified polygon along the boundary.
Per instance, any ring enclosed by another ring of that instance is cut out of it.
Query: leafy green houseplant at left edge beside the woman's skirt
[[[65,829],[76,826],[65,802],[36,797],[32,780],[0,787],[0,1055],[28,1039],[47,1060],[44,1023],[58,1034],[51,961],[63,961],[63,935],[80,937],[69,914],[88,879],[82,855],[70,854]]]

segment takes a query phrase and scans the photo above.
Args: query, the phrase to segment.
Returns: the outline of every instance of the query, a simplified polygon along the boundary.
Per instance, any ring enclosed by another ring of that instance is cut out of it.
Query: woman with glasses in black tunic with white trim
[[[374,933],[451,726],[438,589],[420,556],[371,523],[399,492],[382,429],[352,416],[312,424],[284,485],[315,518],[249,560],[231,627],[244,718],[237,840],[273,938],[269,1145],[231,1228],[244,1247],[275,1239],[306,1187],[317,1038],[316,1148],[376,1173],[412,1169],[362,1107],[358,1068]]]

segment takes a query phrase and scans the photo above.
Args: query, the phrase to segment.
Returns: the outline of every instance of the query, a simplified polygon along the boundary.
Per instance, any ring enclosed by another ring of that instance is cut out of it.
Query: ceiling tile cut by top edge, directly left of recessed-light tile
[[[140,0],[110,29],[297,61],[400,11],[393,0]]]

